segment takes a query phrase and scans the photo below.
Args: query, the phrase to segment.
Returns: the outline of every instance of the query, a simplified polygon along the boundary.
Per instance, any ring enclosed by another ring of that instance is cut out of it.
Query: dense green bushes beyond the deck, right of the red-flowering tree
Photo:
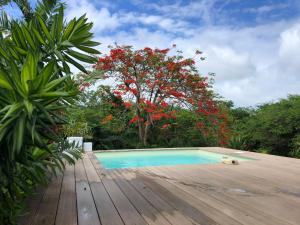
[[[300,96],[230,110],[230,147],[300,158]]]

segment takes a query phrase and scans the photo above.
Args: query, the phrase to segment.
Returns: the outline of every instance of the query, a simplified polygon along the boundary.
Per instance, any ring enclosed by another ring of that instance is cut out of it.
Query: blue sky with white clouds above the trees
[[[237,107],[300,94],[299,0],[65,2],[67,20],[86,13],[94,23],[103,53],[115,42],[136,49],[176,44],[186,57],[201,50],[200,73],[215,73],[215,92]]]

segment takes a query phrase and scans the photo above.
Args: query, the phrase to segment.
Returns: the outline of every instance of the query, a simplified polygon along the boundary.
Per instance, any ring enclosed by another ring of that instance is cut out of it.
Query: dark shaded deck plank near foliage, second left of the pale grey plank
[[[49,184],[32,225],[51,225],[55,223],[61,183],[62,175],[59,175]]]

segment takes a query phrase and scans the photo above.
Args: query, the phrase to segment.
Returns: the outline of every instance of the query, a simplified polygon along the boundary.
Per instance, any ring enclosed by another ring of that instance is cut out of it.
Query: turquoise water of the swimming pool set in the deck
[[[249,160],[202,150],[149,150],[95,153],[106,169],[219,163],[223,157]]]

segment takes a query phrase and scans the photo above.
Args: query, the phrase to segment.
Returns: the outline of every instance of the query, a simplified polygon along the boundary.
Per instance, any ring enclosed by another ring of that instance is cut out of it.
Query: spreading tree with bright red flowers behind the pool
[[[180,51],[171,55],[170,51],[116,46],[99,58],[94,67],[104,72],[105,79],[113,80],[114,94],[123,100],[124,106],[134,109],[129,123],[137,124],[143,145],[147,144],[149,129],[156,121],[167,121],[162,129],[171,126],[178,107],[197,113],[199,121],[195,125],[203,132],[218,126],[224,142],[224,115],[213,100],[208,78],[200,75],[194,59],[183,57]],[[201,54],[196,51],[203,59]]]

